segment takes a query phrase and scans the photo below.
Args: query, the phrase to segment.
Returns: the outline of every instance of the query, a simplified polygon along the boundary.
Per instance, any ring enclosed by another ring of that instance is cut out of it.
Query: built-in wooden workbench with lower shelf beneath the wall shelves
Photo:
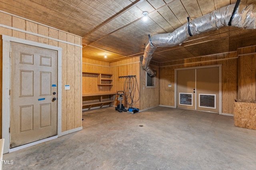
[[[109,100],[103,100],[102,96],[104,96],[104,95],[112,95],[112,96],[110,96]],[[91,96],[99,96],[100,98],[99,98],[99,101],[90,101],[90,102],[84,101],[84,98],[83,98],[82,106],[89,106],[88,110],[91,109],[92,105],[97,105],[97,104],[101,104],[100,108],[102,108],[104,103],[109,103],[109,106],[111,106],[111,104],[115,101],[116,92],[86,93],[86,94],[83,94],[83,97],[91,97]]]

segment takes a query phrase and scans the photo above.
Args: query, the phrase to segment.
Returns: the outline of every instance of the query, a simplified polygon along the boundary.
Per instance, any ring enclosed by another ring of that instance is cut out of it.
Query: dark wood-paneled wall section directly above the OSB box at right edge
[[[256,46],[238,49],[238,99],[256,100]]]

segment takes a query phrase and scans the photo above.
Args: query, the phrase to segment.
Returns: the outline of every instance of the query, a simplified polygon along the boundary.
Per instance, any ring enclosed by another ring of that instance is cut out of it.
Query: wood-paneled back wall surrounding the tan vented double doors
[[[222,113],[233,114],[238,80],[236,57],[236,52],[231,52],[160,63],[160,105],[174,107],[174,69],[222,64]]]

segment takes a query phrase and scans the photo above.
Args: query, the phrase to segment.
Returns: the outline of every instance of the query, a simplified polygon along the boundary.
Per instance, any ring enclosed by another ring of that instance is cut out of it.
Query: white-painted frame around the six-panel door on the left
[[[29,144],[25,144],[22,146],[18,146],[16,148],[10,149],[10,133],[9,133],[9,127],[10,127],[10,87],[11,87],[11,63],[10,63],[10,44],[11,42],[17,42],[22,43],[26,45],[32,45],[36,47],[42,47],[46,49],[52,49],[58,51],[57,56],[57,94],[58,94],[58,101],[57,101],[57,135],[52,136],[50,138],[42,139],[36,142],[32,142]],[[51,140],[53,138],[60,137],[62,135],[61,133],[61,113],[62,113],[62,48],[56,47],[53,45],[48,45],[44,43],[38,43],[38,42],[32,42],[29,40],[24,40],[20,38],[15,38],[11,36],[5,36],[2,35],[2,56],[3,56],[3,70],[2,70],[2,138],[4,138],[4,153],[13,152],[15,150],[25,148],[28,146],[32,146],[34,144],[38,144],[41,142],[45,142],[47,140]]]

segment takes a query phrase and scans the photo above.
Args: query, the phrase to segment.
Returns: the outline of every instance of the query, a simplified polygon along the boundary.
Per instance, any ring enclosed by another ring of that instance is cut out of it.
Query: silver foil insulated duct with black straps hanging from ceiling
[[[196,18],[172,33],[156,34],[149,38],[145,45],[142,68],[150,76],[154,75],[154,71],[149,67],[149,64],[157,47],[172,47],[188,40],[190,36],[216,30],[223,26],[255,29],[256,6],[254,4],[239,4],[239,2]]]

